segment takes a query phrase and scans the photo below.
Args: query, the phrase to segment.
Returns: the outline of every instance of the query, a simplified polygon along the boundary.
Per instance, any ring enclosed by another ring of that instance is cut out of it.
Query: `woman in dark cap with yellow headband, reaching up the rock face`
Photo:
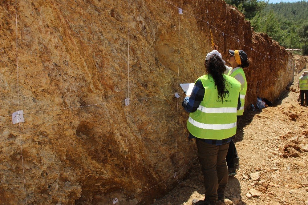
[[[215,49],[218,49],[218,46],[214,44]],[[245,107],[245,95],[247,91],[247,80],[243,68],[249,66],[249,59],[247,54],[243,50],[229,50],[231,57],[228,59],[228,62],[231,64],[231,67],[226,66],[225,74],[237,79],[241,83],[240,98],[241,98],[241,108],[237,111],[237,124],[244,113]],[[233,140],[231,140],[229,145],[229,150],[226,156],[228,164],[228,175],[236,175],[236,166],[239,165],[239,158],[237,156],[237,150]]]

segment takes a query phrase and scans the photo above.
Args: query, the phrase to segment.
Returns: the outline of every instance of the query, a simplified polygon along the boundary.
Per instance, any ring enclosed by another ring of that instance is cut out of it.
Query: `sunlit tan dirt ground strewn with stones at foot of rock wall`
[[[240,167],[229,177],[225,204],[308,204],[308,108],[297,101],[301,74],[273,107],[245,111],[234,139]],[[187,179],[155,204],[190,205],[204,193],[196,160]]]

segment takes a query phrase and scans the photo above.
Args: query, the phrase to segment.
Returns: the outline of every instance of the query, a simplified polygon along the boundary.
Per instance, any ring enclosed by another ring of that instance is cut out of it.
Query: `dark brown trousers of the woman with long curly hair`
[[[229,144],[211,145],[196,138],[199,160],[204,175],[205,198],[217,200],[218,194],[225,193],[228,183],[226,155]]]

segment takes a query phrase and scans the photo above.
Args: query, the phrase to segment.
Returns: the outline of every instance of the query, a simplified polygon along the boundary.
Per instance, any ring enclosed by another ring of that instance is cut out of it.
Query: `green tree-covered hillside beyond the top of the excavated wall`
[[[264,0],[226,0],[251,22],[256,32],[267,33],[280,45],[303,49],[308,55],[308,2],[268,3]],[[307,44],[307,45],[306,45]]]

